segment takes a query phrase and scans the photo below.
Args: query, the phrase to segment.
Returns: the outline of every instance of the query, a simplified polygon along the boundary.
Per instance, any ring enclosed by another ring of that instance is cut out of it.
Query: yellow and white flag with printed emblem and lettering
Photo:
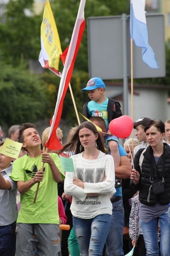
[[[61,74],[58,69],[61,53],[61,45],[53,12],[50,2],[46,1],[41,24],[41,51],[38,60],[42,67],[49,68],[60,76]]]

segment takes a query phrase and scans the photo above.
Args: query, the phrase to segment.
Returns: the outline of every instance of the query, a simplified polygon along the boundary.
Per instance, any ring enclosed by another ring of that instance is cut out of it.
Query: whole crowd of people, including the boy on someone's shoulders
[[[99,77],[82,91],[90,122],[71,128],[63,144],[57,128],[62,149],[46,149],[50,127],[42,138],[34,124],[9,128],[22,150],[18,159],[0,154],[0,256],[124,256],[134,246],[134,256],[170,256],[170,120],[134,121],[137,138],[122,147],[109,131],[122,116],[119,102],[105,96]]]

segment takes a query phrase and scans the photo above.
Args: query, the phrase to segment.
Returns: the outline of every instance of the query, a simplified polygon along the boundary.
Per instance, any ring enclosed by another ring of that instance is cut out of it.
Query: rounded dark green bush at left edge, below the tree
[[[0,63],[0,124],[35,123],[46,117],[47,88],[40,77],[21,66]]]

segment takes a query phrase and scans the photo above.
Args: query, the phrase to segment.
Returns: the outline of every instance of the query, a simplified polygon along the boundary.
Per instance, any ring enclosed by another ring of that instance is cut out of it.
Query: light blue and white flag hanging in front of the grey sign
[[[159,68],[155,54],[148,44],[145,0],[131,0],[130,34],[136,46],[142,48],[142,60],[151,68]]]

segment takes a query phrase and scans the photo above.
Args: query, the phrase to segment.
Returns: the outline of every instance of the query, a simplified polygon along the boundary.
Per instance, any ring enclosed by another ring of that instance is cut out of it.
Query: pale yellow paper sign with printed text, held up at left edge
[[[21,147],[22,143],[6,138],[0,149],[0,154],[17,159],[20,154]]]

